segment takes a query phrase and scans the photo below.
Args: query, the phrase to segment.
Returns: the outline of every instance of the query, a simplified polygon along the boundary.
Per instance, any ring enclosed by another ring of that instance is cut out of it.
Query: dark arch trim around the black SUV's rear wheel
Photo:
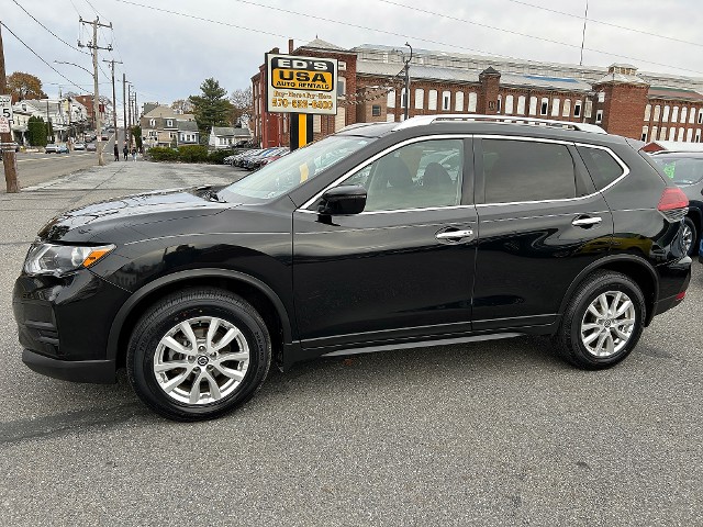
[[[561,304],[559,305],[559,315],[563,315],[569,299],[573,295],[576,289],[594,271],[615,271],[626,277],[639,285],[641,293],[645,298],[645,307],[647,310],[647,317],[645,319],[645,326],[648,326],[651,322],[655,313],[655,306],[657,299],[659,298],[659,278],[657,270],[651,264],[641,257],[634,255],[613,255],[606,256],[592,262],[585,269],[583,269],[571,282],[569,289],[567,289]]]

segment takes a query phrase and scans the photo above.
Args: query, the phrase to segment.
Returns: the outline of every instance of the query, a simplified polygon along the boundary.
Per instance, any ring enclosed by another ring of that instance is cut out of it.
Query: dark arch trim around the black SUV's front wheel
[[[108,359],[124,366],[126,346],[142,314],[164,295],[187,287],[219,287],[239,294],[261,315],[268,326],[274,358],[282,361],[283,343],[292,340],[290,316],[280,296],[266,283],[241,271],[196,269],[158,278],[135,291],[120,307],[108,336]]]

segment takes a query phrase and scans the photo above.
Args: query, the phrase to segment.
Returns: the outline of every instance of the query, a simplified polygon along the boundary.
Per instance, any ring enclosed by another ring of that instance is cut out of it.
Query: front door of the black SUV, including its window
[[[467,155],[468,154],[468,155]],[[302,346],[344,347],[471,329],[477,214],[468,139],[412,141],[339,184],[367,205],[293,216],[293,284]]]

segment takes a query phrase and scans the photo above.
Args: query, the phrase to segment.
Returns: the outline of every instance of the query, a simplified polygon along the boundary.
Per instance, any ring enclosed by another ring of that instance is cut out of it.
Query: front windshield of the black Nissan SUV
[[[219,192],[225,201],[242,199],[271,200],[290,192],[304,181],[339,162],[359,148],[375,141],[372,137],[333,135],[265,165],[252,175]]]

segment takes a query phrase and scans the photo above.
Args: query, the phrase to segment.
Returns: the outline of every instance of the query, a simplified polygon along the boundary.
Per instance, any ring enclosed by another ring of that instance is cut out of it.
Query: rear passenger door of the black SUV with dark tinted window
[[[473,328],[555,322],[571,282],[610,249],[609,206],[568,142],[484,136],[475,145]]]

